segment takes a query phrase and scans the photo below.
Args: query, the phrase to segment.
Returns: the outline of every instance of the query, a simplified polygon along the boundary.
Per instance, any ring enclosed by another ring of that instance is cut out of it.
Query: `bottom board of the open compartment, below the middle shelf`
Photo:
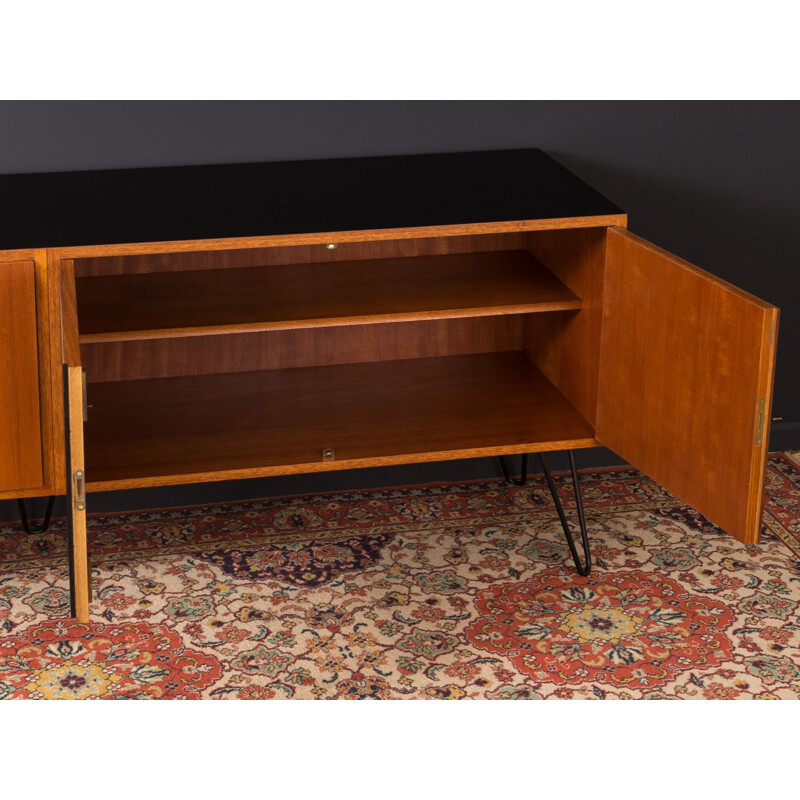
[[[98,383],[88,399],[94,491],[597,445],[516,351]]]

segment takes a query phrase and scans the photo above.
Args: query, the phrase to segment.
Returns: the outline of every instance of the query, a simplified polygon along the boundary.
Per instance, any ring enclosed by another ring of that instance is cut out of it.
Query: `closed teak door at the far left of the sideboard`
[[[0,491],[41,485],[34,264],[0,263]]]

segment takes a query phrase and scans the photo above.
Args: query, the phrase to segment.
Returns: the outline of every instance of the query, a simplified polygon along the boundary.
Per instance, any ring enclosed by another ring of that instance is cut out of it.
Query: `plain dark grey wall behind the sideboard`
[[[797,102],[0,102],[0,174],[540,147],[624,208],[635,233],[781,307],[774,414],[783,422],[773,449],[800,448],[799,142]],[[493,469],[202,491],[301,492]],[[198,491],[148,497],[191,502]]]

